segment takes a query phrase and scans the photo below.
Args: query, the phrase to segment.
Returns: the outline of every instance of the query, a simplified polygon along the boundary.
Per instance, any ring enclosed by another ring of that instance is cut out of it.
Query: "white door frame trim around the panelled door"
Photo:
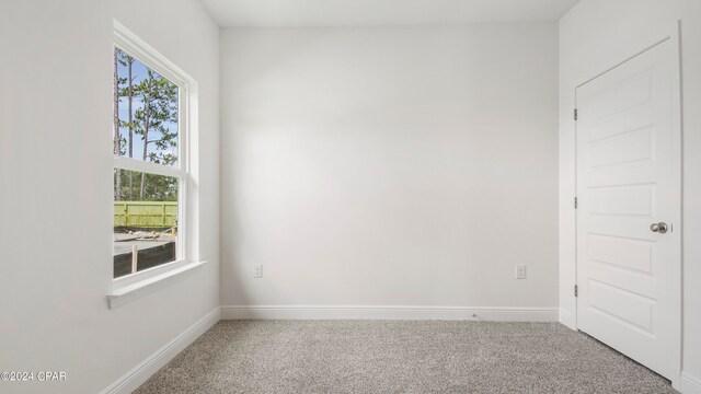
[[[679,383],[680,383],[680,379],[681,379],[681,368],[682,368],[682,340],[683,340],[683,336],[682,336],[682,320],[683,320],[683,294],[682,294],[682,280],[683,280],[683,271],[682,271],[682,243],[683,243],[683,222],[682,222],[682,211],[683,211],[683,183],[682,183],[682,162],[683,162],[683,157],[682,157],[682,146],[683,146],[683,125],[682,125],[682,90],[681,90],[681,78],[682,78],[682,73],[681,73],[681,21],[677,21],[677,23],[675,23],[675,25],[673,27],[669,28],[669,34],[667,36],[665,36],[664,38],[657,40],[656,43],[654,43],[653,45],[650,45],[648,47],[644,48],[643,50],[637,51],[636,54],[634,54],[633,56],[624,59],[623,61],[617,63],[613,67],[608,68],[607,70],[597,73],[596,76],[587,79],[586,81],[577,84],[574,89],[574,103],[575,103],[575,108],[577,107],[577,89],[586,85],[587,83],[596,80],[597,78],[612,71],[613,69],[624,65],[625,62],[636,58],[637,56],[662,45],[665,43],[670,43],[673,45],[673,48],[675,48],[675,50],[673,51],[673,56],[674,56],[674,68],[673,68],[673,81],[675,81],[675,83],[673,84],[673,109],[671,109],[671,117],[673,117],[673,126],[671,126],[671,134],[673,134],[673,182],[675,184],[675,188],[678,190],[678,201],[679,205],[677,207],[677,209],[675,209],[675,213],[674,217],[669,220],[670,222],[673,222],[674,224],[676,224],[674,227],[674,231],[677,232],[679,234],[679,236],[677,237],[677,241],[675,242],[676,245],[674,247],[674,255],[673,255],[673,277],[674,277],[674,282],[673,282],[673,291],[674,291],[674,303],[675,303],[675,309],[674,309],[674,313],[677,316],[677,318],[674,320],[673,325],[674,325],[674,329],[673,329],[673,340],[674,343],[677,345],[675,346],[675,349],[673,349],[674,351],[674,359],[675,364],[673,366],[673,371],[674,374],[671,376],[671,383],[675,389],[679,389]],[[575,198],[577,196],[577,186],[578,186],[578,179],[577,179],[577,121],[574,120],[574,130],[575,130],[575,139],[574,139],[574,144],[572,146],[572,149],[574,150],[572,152],[572,158],[574,158],[574,173],[573,178],[574,178],[574,192],[575,192]],[[577,228],[578,228],[578,223],[577,223],[577,211],[575,210],[574,213],[574,239],[577,239]],[[573,258],[573,264],[574,264],[574,283],[575,286],[578,285],[579,282],[579,278],[578,278],[578,264],[577,264],[577,245],[576,242],[574,244],[574,250],[572,251],[574,253],[574,258]],[[573,323],[574,323],[574,327],[575,329],[579,329],[579,322],[578,322],[578,306],[577,306],[577,302],[575,299],[574,302],[574,316],[573,316]]]

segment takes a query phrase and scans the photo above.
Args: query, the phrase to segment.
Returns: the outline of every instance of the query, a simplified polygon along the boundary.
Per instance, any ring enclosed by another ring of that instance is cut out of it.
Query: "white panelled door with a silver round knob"
[[[577,326],[676,379],[680,128],[676,39],[577,88]]]

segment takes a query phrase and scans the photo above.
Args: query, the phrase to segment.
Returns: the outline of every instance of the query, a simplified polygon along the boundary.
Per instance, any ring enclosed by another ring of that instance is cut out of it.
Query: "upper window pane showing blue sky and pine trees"
[[[179,88],[115,48],[114,154],[177,165]]]

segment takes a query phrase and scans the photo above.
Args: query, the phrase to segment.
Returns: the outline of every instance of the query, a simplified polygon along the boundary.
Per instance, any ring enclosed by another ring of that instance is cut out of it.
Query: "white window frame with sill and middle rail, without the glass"
[[[113,280],[112,290],[107,294],[110,308],[114,308],[125,301],[138,297],[145,290],[152,288],[156,283],[163,282],[169,278],[189,271],[206,263],[199,262],[198,256],[196,256],[194,247],[195,242],[193,240],[193,233],[189,225],[191,219],[193,218],[193,207],[191,207],[189,204],[192,200],[196,199],[192,198],[192,194],[195,193],[195,190],[191,187],[193,182],[191,174],[192,166],[189,147],[195,126],[193,123],[193,114],[191,114],[191,100],[193,92],[197,91],[197,82],[170,61],[165,56],[161,55],[117,21],[114,21],[114,48],[124,50],[129,54],[129,56],[142,62],[146,67],[152,69],[177,85],[179,157],[176,166],[168,166],[138,159],[114,155],[114,152],[111,150],[111,154],[113,154],[113,170],[119,169],[175,177],[179,179],[179,189],[175,260],[125,275],[119,278],[114,278],[114,262],[110,259],[112,267],[111,276]],[[117,132],[117,130],[112,130],[113,140],[114,132]]]

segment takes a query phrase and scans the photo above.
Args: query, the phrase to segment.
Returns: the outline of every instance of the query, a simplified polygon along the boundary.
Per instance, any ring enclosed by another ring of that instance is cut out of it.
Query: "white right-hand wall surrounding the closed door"
[[[698,0],[582,0],[560,21],[560,308],[575,326],[574,121],[575,86],[667,36],[682,21],[683,72],[683,362],[701,393],[701,4]]]

